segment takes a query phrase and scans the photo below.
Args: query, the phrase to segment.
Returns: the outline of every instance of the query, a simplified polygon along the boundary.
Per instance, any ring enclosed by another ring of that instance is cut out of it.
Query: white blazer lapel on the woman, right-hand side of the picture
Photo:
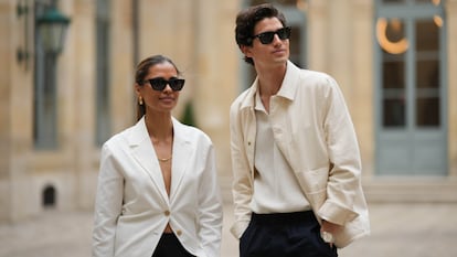
[[[185,127],[173,118],[173,159],[171,165],[170,200],[172,201],[179,188],[183,183],[185,172],[192,167],[189,160],[192,153],[190,135],[185,133]]]

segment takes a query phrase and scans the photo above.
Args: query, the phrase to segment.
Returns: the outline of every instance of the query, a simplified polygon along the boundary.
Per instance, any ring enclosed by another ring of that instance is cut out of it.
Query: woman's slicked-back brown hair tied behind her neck
[[[152,55],[145,60],[142,60],[137,65],[137,72],[135,73],[135,82],[142,86],[145,84],[145,77],[148,75],[149,68],[161,63],[170,63],[173,65],[174,69],[177,69],[178,75],[181,75],[181,72],[178,69],[177,65],[171,61],[171,58],[163,56],[163,55]],[[141,119],[141,117],[146,114],[146,106],[140,105],[137,99],[137,120]]]

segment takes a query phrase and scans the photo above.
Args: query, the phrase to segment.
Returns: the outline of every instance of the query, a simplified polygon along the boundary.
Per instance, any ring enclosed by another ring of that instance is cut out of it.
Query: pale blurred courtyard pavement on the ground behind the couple
[[[237,257],[224,208],[222,257]],[[371,236],[340,249],[340,257],[456,257],[457,204],[370,204]],[[91,256],[92,213],[47,211],[0,225],[0,257]]]

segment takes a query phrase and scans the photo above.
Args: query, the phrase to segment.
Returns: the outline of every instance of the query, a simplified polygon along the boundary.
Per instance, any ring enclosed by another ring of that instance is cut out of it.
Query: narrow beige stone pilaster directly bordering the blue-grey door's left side
[[[352,0],[351,2],[350,20],[354,33],[351,36],[351,54],[347,61],[347,66],[353,67],[348,74],[352,77],[352,85],[349,85],[351,89],[347,100],[350,101],[351,116],[363,157],[362,174],[364,176],[374,175],[373,4],[371,0]]]

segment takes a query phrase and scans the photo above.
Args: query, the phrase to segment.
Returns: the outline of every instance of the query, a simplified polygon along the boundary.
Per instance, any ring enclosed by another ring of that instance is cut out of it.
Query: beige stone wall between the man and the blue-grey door
[[[363,175],[373,174],[373,2],[310,0],[309,67],[339,83],[358,133]]]

